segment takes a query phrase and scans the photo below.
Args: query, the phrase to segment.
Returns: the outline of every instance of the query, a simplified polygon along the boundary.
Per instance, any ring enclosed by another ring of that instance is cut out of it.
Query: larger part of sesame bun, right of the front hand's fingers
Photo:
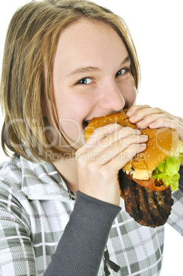
[[[143,135],[147,135],[147,148],[143,152],[128,162],[123,171],[132,171],[134,179],[149,179],[152,172],[167,157],[178,156],[179,139],[178,134],[171,128],[145,128],[141,130]]]

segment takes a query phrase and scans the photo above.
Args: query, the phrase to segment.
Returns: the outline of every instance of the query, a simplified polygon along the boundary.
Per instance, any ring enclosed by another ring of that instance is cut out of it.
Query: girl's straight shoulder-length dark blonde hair
[[[53,161],[53,154],[64,154],[57,146],[48,147],[47,132],[40,131],[44,130],[42,99],[45,90],[53,120],[59,128],[53,99],[53,60],[60,32],[82,18],[107,23],[121,36],[138,89],[140,69],[136,49],[120,16],[84,0],[27,3],[12,17],[5,40],[1,75],[1,106],[5,113],[1,144],[5,154],[9,155],[8,150],[11,150],[31,161],[35,158],[49,162]],[[48,151],[51,154],[47,154]]]

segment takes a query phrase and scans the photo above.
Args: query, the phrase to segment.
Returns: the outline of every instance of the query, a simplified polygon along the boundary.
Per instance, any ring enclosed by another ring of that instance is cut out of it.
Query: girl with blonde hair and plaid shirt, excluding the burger
[[[138,82],[130,32],[110,10],[47,0],[14,14],[1,78],[2,146],[14,152],[0,174],[2,275],[160,274],[164,227],[134,222],[117,180],[148,137],[111,124],[84,141],[91,118],[123,108],[139,128],[169,126],[183,141],[182,119],[134,106]],[[173,199],[181,232],[182,193]]]

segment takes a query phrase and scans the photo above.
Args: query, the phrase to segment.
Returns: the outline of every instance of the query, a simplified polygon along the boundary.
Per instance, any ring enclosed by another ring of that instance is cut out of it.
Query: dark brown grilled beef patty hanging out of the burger
[[[125,210],[136,222],[153,228],[167,222],[173,205],[170,188],[152,191],[138,185],[122,170],[119,171],[119,185],[125,200]]]

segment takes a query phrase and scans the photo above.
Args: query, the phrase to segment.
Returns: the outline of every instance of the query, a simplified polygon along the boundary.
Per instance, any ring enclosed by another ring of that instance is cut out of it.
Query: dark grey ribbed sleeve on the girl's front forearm
[[[45,276],[94,276],[121,207],[76,192],[75,207]]]

